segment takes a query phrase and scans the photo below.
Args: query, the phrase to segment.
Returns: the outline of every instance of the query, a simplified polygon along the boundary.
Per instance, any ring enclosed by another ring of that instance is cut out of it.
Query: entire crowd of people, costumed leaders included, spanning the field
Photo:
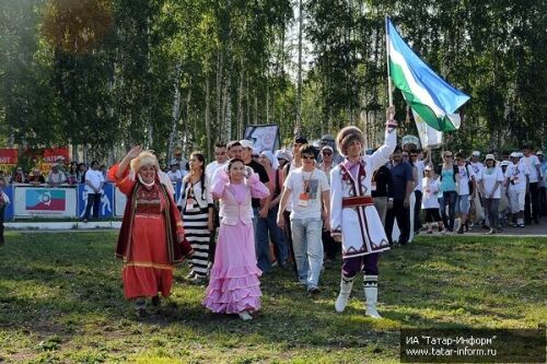
[[[261,305],[261,274],[275,267],[293,270],[314,297],[322,271],[341,254],[334,308],[345,310],[362,273],[366,315],[380,318],[379,257],[395,244],[475,226],[496,234],[537,224],[547,212],[542,151],[524,145],[466,157],[444,150],[435,163],[431,151],[397,144],[393,117],[389,108],[377,149],[365,149],[361,130],[347,127],[336,139],[324,136],[318,146],[299,136],[275,153],[255,150],[249,140],[217,143],[211,163],[199,151],[186,161],[177,150],[162,171],[152,152],[135,146],[108,172],[95,161],[86,172],[75,163],[67,173],[54,166],[47,183],[86,185],[84,221],[106,180],[127,196],[116,255],[124,259],[125,295],[139,317],[147,315],[147,298],[159,306],[170,295],[173,269],[184,259],[186,279],[208,284],[205,307],[249,320]],[[22,180],[28,179],[18,168],[12,181]],[[7,198],[0,193],[0,209]]]

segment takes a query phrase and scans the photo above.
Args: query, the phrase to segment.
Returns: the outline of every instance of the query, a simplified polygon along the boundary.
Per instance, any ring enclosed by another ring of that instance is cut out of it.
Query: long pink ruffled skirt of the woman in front
[[[256,266],[253,225],[221,224],[214,265],[202,304],[217,314],[260,308],[261,271]]]

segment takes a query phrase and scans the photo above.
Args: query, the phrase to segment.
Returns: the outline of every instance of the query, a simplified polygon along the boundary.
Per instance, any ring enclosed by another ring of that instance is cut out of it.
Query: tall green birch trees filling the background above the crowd
[[[547,33],[538,31],[547,25],[545,1],[303,5],[313,56],[302,99],[310,139],[348,124],[369,137],[382,129],[389,14],[414,49],[472,96],[447,148],[545,143]],[[212,142],[240,139],[251,124],[276,122],[289,140],[296,118],[293,7],[288,0],[2,1],[0,140],[86,145],[97,157],[133,143],[168,157],[170,140],[186,152],[210,152]],[[394,96],[405,120],[400,93]],[[401,129],[414,132],[410,122]]]

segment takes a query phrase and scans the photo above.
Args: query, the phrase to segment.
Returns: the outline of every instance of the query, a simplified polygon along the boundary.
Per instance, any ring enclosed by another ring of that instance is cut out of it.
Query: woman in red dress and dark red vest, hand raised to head
[[[128,168],[130,167],[130,168]],[[173,269],[191,255],[173,196],[160,181],[154,154],[133,146],[108,177],[127,196],[116,256],[124,259],[124,291],[146,316],[147,297],[160,304],[171,294]]]

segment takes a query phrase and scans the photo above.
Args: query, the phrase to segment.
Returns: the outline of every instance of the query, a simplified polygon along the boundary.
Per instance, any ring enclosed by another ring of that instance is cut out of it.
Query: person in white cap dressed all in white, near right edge
[[[529,171],[524,163],[520,163],[517,152],[510,155],[511,164],[505,171],[505,186],[508,188],[511,213],[516,223],[513,226],[524,227],[524,201],[528,189]]]

